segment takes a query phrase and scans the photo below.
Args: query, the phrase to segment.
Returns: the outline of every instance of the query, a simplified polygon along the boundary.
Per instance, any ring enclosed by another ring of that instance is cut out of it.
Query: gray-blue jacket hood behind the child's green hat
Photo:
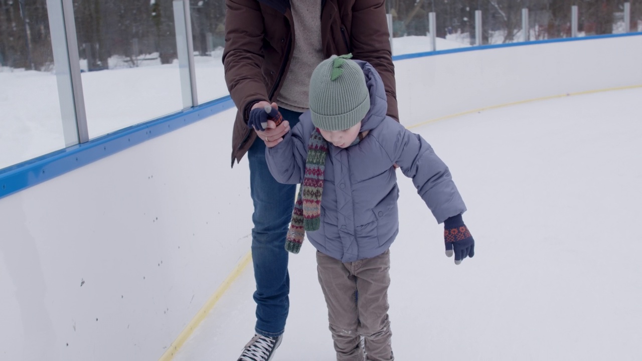
[[[376,69],[369,62],[364,62],[363,60],[354,60],[354,62],[363,70],[365,84],[370,92],[370,110],[361,121],[361,132],[365,132],[376,128],[386,118],[388,98],[386,97],[383,80],[381,80],[381,76],[379,76]]]

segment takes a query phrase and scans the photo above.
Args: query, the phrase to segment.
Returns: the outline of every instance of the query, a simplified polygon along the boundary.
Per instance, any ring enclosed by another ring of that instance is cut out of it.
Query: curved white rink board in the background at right
[[[642,36],[399,60],[395,62],[399,117],[404,125],[413,125],[516,101],[642,85],[640,64]]]

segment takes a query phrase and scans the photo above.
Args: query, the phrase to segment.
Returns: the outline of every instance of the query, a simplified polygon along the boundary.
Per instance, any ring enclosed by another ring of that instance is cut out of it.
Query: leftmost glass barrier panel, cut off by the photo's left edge
[[[65,148],[47,3],[0,1],[0,169]]]

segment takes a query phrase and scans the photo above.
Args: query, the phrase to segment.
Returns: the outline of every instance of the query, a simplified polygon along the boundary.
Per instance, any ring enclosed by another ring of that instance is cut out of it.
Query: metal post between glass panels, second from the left
[[[196,71],[194,67],[194,44],[192,24],[189,15],[189,0],[174,0],[174,26],[176,28],[176,46],[178,52],[178,71],[183,108],[196,107]]]

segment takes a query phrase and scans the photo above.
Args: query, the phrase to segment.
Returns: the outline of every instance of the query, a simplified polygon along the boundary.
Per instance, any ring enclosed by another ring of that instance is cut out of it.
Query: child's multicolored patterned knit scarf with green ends
[[[361,132],[350,146],[357,145],[368,131]],[[321,194],[323,193],[325,156],[327,143],[318,129],[310,136],[306,174],[299,187],[297,202],[294,204],[290,230],[286,236],[285,249],[299,253],[306,231],[317,231],[321,225]]]

